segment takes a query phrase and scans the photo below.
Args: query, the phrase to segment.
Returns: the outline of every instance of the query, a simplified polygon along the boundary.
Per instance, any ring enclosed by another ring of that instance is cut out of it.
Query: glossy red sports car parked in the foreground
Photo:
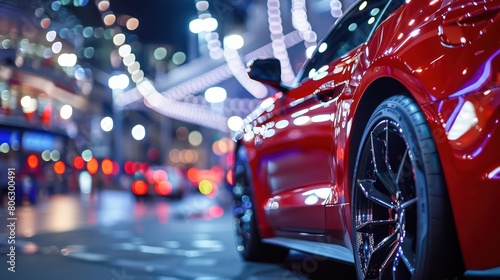
[[[500,277],[500,1],[357,1],[235,133],[237,250],[360,279]]]

